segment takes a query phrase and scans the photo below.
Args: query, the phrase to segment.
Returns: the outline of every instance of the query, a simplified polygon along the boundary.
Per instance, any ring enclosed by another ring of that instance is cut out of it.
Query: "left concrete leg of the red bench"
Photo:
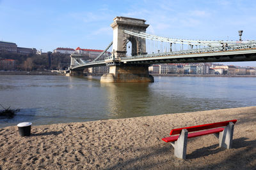
[[[182,129],[179,139],[175,142],[171,142],[174,148],[174,155],[181,159],[186,159],[188,142],[188,130]]]

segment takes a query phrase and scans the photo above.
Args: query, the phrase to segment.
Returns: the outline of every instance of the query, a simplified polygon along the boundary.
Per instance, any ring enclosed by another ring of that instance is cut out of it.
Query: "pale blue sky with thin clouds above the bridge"
[[[243,30],[243,40],[256,40],[255,9],[255,0],[0,0],[0,41],[42,52],[104,50],[116,16],[145,19],[149,34],[168,38],[235,41]]]

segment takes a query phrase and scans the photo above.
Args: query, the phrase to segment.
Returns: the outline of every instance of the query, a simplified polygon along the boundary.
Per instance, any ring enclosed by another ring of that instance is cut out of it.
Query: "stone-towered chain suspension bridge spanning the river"
[[[189,62],[237,62],[256,60],[256,41],[211,41],[166,38],[147,34],[146,20],[115,17],[111,24],[113,41],[100,55],[88,62],[72,54],[70,76],[79,76],[87,67],[109,66],[100,81],[154,81],[150,64]],[[106,55],[111,50],[111,56]]]

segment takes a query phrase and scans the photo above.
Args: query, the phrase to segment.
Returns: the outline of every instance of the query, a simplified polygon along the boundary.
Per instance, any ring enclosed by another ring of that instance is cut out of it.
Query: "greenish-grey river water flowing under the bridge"
[[[154,83],[100,83],[65,76],[0,75],[0,104],[20,109],[13,118],[0,117],[0,127],[256,106],[256,78],[154,79]]]

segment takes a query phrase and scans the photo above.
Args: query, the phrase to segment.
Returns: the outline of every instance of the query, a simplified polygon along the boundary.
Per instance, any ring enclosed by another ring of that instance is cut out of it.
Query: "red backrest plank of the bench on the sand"
[[[191,126],[191,127],[182,127],[182,128],[178,128],[178,129],[172,129],[172,131],[170,132],[170,135],[180,134],[182,129],[187,129],[188,132],[194,132],[194,131],[202,131],[205,129],[212,129],[212,128],[216,128],[216,127],[223,127],[223,126],[228,125],[229,122],[233,122],[234,124],[236,124],[237,120],[228,120],[225,122],[217,122],[217,123],[213,123],[213,124],[195,125],[195,126]]]

